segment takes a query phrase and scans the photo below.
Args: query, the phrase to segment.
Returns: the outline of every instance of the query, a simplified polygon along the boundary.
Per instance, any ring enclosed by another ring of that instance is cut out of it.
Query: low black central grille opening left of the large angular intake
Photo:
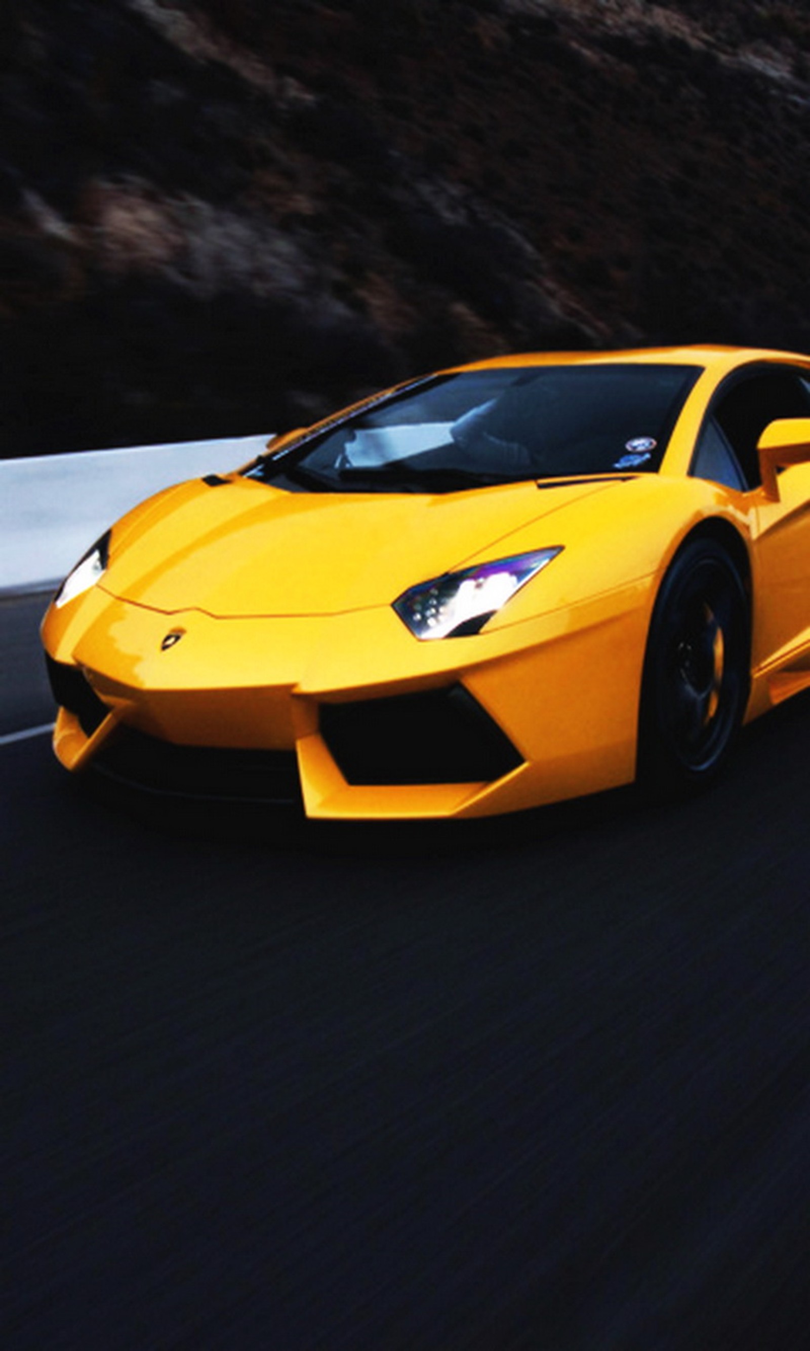
[[[176,746],[120,725],[92,767],[122,784],[170,797],[301,802],[294,751]]]

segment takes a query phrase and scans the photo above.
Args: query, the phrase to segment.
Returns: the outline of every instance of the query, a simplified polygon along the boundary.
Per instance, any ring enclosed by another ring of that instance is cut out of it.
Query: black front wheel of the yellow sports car
[[[740,573],[722,546],[687,540],[652,613],[639,720],[639,780],[657,793],[710,782],[748,700],[749,620]]]

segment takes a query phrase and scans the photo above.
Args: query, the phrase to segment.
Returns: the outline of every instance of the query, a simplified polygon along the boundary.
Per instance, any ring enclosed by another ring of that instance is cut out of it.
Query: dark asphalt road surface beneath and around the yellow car
[[[695,802],[378,831],[0,744],[0,1346],[809,1347],[809,763],[805,698]]]

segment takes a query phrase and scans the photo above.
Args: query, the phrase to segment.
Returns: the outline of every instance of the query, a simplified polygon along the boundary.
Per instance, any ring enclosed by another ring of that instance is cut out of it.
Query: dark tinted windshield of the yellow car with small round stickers
[[[265,457],[293,490],[458,492],[657,470],[697,366],[599,362],[439,376]]]

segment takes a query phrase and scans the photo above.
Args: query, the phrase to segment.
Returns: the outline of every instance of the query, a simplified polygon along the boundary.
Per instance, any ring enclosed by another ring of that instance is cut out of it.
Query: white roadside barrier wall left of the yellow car
[[[0,459],[0,596],[47,590],[130,507],[252,459],[269,435]]]

